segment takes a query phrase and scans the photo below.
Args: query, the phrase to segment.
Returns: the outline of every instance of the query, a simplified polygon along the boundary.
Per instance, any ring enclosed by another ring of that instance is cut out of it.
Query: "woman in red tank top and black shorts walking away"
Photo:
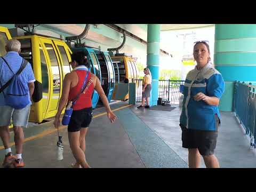
[[[73,113],[68,124],[68,139],[72,153],[76,159],[73,167],[90,167],[85,159],[85,135],[92,120],[92,94],[94,89],[98,92],[103,105],[106,107],[107,116],[111,123],[116,120],[116,115],[111,111],[108,99],[101,87],[97,76],[90,73],[86,68],[87,59],[84,52],[79,51],[71,54],[71,73],[66,74],[62,86],[62,95],[59,102],[58,112],[55,116],[54,126],[58,129],[60,125],[60,114],[66,106],[67,101],[72,101],[81,92],[85,77],[88,89],[84,91],[77,101],[73,103]]]

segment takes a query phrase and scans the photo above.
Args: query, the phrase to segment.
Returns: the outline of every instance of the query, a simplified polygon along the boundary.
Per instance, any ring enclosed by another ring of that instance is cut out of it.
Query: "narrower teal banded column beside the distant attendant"
[[[155,106],[158,100],[160,25],[148,24],[147,34],[147,67],[152,75],[152,90],[149,103],[150,106]]]

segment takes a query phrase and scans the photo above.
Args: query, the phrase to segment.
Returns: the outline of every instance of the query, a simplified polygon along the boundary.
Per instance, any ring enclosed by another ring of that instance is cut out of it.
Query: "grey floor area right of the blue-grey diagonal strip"
[[[172,111],[138,110],[133,107],[132,111],[188,163],[188,151],[182,148],[179,127],[181,108],[176,107]],[[250,141],[244,135],[243,128],[239,126],[234,113],[221,112],[221,118],[222,125],[215,149],[220,167],[256,167],[256,149],[249,149]],[[205,167],[203,158],[201,158],[201,167]]]

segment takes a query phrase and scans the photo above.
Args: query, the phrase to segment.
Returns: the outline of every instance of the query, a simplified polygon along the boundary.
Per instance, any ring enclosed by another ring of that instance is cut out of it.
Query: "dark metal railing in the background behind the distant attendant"
[[[142,79],[135,79],[136,83],[136,102],[142,100]],[[159,80],[158,98],[162,101],[170,101],[171,104],[179,104],[180,92],[183,90],[185,81]]]

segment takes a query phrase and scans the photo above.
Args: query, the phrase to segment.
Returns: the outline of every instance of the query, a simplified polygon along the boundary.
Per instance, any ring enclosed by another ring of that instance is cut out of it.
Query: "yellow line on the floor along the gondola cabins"
[[[112,110],[112,111],[117,111],[117,110],[120,110],[120,109],[123,109],[123,108],[126,108],[126,107],[130,107],[130,106],[132,106],[132,105],[127,105],[127,106],[119,107],[119,108],[114,109],[114,110]],[[105,112],[105,113],[101,113],[101,114],[98,114],[98,115],[93,116],[93,118],[100,117],[100,116],[106,115],[106,114],[107,114],[106,112]],[[59,130],[62,130],[62,129],[65,129],[65,128],[67,128],[67,126],[61,125],[61,126],[59,127]],[[42,138],[42,137],[44,137],[45,135],[51,134],[51,133],[56,132],[56,131],[57,131],[57,129],[55,129],[55,128],[54,128],[54,129],[45,130],[45,131],[43,131],[43,132],[40,133],[40,134],[37,134],[37,135],[34,135],[34,136],[32,136],[32,137],[28,137],[28,138],[24,139],[24,142],[26,142],[26,141],[31,141],[31,140],[38,139],[38,138]],[[12,143],[9,144],[10,147],[11,147],[11,146],[14,146],[14,145],[15,145],[14,142],[12,142]],[[1,150],[1,149],[4,149],[4,146],[0,146],[0,150]]]

